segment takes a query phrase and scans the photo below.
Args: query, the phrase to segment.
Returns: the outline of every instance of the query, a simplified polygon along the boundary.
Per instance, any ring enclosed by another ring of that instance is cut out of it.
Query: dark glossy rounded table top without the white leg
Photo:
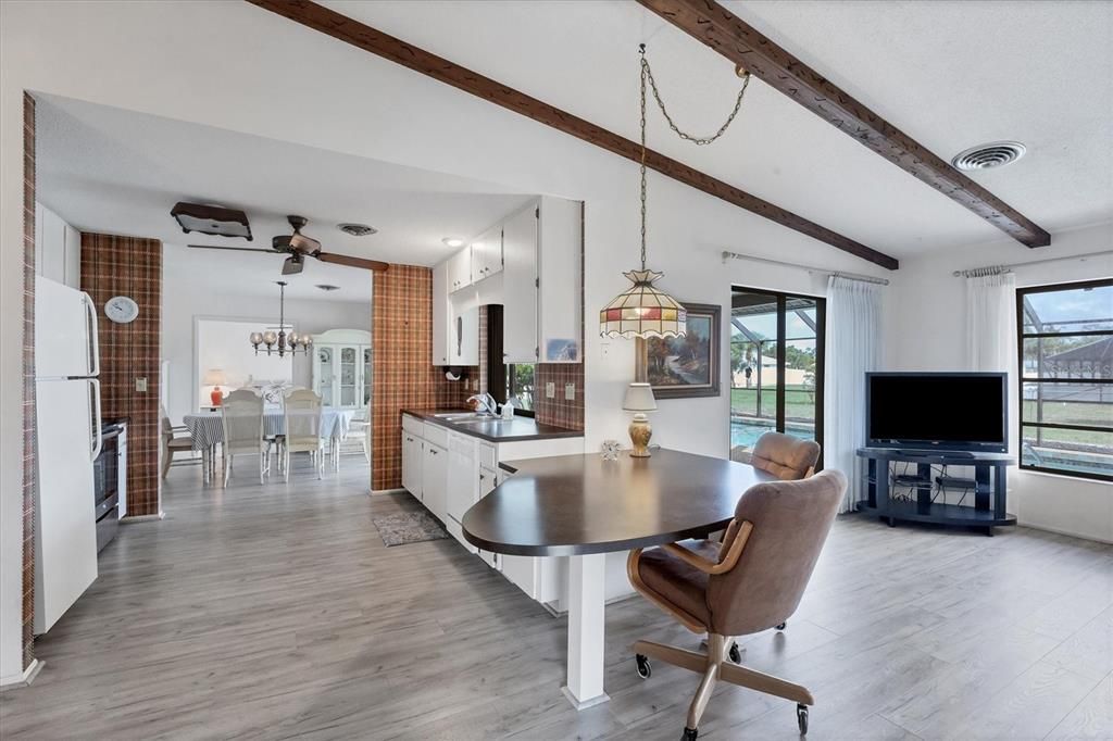
[[[750,465],[679,451],[513,461],[516,473],[464,514],[464,537],[508,555],[584,555],[702,537],[726,527],[754,484]]]

